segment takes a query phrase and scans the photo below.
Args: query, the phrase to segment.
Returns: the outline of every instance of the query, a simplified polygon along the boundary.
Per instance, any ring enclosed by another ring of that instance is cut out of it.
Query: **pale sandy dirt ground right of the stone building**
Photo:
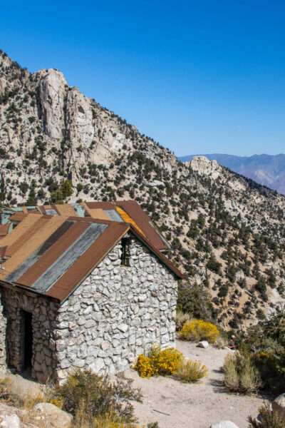
[[[214,347],[204,350],[181,341],[177,341],[177,349],[206,365],[208,377],[197,384],[183,384],[170,377],[142,379],[134,370],[128,370],[127,376],[143,394],[143,403],[135,403],[140,423],[158,422],[160,428],[209,428],[214,422],[229,420],[239,428],[247,428],[247,417],[257,416],[264,399],[224,391],[220,367],[229,351]]]

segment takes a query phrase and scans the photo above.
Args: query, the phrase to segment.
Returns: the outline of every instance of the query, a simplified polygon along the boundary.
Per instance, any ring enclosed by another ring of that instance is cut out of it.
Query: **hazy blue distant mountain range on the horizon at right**
[[[183,156],[180,161],[191,161],[197,155]],[[262,185],[277,190],[285,195],[285,154],[280,155],[254,155],[234,156],[214,153],[207,156],[211,161],[216,160],[221,165],[233,170],[235,173],[252,178]]]

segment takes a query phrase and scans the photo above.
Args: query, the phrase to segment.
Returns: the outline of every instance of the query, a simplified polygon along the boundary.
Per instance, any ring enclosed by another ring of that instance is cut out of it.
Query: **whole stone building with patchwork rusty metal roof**
[[[118,372],[153,343],[175,345],[182,275],[128,220],[11,216],[16,227],[0,240],[2,369],[63,380],[74,368]]]

